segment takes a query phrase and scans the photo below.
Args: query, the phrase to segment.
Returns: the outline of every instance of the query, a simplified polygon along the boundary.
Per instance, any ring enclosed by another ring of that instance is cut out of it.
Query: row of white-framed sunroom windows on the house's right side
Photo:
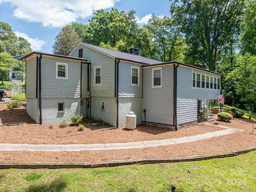
[[[195,88],[220,90],[220,78],[193,72],[192,86]]]

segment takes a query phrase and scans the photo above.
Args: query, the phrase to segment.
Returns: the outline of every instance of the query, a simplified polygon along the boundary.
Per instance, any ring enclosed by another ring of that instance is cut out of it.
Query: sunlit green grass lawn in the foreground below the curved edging
[[[256,151],[207,161],[96,169],[1,170],[0,191],[256,191]]]

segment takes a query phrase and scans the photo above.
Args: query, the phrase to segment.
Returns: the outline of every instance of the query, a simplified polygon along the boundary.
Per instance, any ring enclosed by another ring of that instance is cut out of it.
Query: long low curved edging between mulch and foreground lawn
[[[224,158],[224,157],[234,157],[237,155],[242,155],[256,150],[256,147],[250,147],[239,151],[229,151],[226,153],[221,153],[217,155],[198,155],[189,156],[181,158],[160,158],[160,159],[144,159],[140,158],[137,160],[116,160],[116,161],[105,161],[97,164],[92,163],[42,163],[35,162],[31,164],[19,164],[19,163],[1,163],[0,169],[70,169],[70,168],[96,168],[96,167],[113,167],[121,165],[131,165],[131,164],[154,164],[154,163],[177,163],[177,162],[191,162],[191,161],[202,161],[213,158]]]

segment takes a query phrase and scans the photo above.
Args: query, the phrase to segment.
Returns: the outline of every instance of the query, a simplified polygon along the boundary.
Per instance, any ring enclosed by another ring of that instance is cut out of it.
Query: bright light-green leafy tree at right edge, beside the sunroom
[[[235,90],[241,95],[241,101],[246,102],[252,109],[256,100],[256,56],[249,53],[239,55],[237,67],[228,78],[236,82]]]

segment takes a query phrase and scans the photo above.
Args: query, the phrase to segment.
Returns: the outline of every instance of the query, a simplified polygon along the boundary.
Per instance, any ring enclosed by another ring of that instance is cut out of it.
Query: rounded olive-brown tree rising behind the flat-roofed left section
[[[53,47],[54,54],[68,55],[70,51],[81,42],[81,38],[77,35],[74,28],[67,25],[61,29],[55,37]]]

